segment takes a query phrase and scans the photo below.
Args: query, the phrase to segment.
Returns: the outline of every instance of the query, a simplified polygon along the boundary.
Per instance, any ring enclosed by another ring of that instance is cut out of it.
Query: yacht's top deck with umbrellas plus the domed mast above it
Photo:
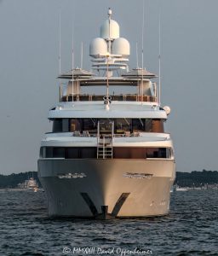
[[[92,72],[72,68],[61,73],[58,78],[68,82],[60,83],[60,102],[103,102],[107,106],[111,102],[153,102],[158,105],[157,84],[152,82],[156,74],[144,67],[129,71],[129,55],[129,41],[120,37],[118,22],[112,20],[109,9],[108,19],[100,27],[100,38],[94,38],[89,44]]]

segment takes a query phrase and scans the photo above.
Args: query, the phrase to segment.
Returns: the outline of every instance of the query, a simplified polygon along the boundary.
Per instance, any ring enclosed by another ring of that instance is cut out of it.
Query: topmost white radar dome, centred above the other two
[[[119,25],[115,20],[110,20],[110,32],[109,32],[109,20],[106,20],[102,26],[100,26],[100,38],[119,38]]]

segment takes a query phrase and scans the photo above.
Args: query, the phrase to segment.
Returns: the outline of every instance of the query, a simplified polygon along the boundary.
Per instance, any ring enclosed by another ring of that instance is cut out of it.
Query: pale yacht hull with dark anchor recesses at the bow
[[[38,160],[49,216],[128,218],[165,215],[174,160]]]

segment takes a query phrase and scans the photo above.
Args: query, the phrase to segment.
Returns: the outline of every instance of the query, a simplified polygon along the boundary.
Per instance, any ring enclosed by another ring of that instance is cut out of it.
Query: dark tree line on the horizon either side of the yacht
[[[19,183],[24,183],[30,177],[36,179],[39,187],[41,187],[37,172],[20,172],[9,175],[0,174],[0,189],[17,188]],[[217,184],[218,172],[206,170],[202,172],[176,172],[175,183],[181,187],[201,187],[206,184]]]

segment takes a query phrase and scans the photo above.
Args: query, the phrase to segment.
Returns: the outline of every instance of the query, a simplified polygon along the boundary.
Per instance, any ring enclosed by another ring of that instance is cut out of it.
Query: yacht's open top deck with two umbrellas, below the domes
[[[108,97],[110,102],[158,103],[157,84],[150,80],[156,76],[146,70],[134,69],[120,77],[106,78],[77,68],[59,78],[68,79],[66,85],[60,86],[60,102],[100,102]]]

